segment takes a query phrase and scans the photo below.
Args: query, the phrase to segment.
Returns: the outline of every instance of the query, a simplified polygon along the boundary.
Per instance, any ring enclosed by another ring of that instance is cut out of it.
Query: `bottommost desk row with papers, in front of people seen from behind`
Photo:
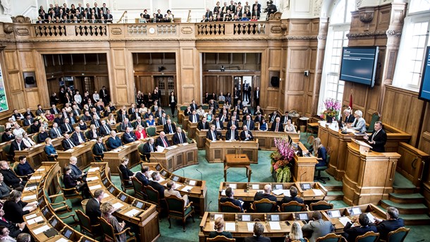
[[[322,212],[323,219],[330,221],[335,226],[336,233],[343,232],[344,220],[352,219],[357,214],[367,213],[369,217],[385,218],[385,212],[373,204],[357,207],[345,207],[341,209]],[[227,213],[205,212],[200,223],[199,241],[204,242],[209,232],[215,231],[214,220],[223,217],[226,225],[224,231],[230,231],[234,238],[251,237],[254,221],[258,219],[264,226],[264,236],[271,238],[285,238],[291,231],[293,222],[299,222],[301,226],[305,221],[312,220],[312,212],[274,212],[274,213]],[[342,217],[342,219],[340,219]],[[258,221],[257,220],[257,221]],[[341,222],[342,221],[342,222]],[[359,224],[355,224],[359,225]]]

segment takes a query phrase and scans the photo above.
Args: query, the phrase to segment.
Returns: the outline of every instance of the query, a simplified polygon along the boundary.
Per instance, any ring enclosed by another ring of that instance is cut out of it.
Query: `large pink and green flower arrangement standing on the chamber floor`
[[[294,158],[294,147],[288,138],[275,138],[276,151],[271,153],[271,172],[276,174],[276,182],[288,182],[291,179],[291,161]]]

